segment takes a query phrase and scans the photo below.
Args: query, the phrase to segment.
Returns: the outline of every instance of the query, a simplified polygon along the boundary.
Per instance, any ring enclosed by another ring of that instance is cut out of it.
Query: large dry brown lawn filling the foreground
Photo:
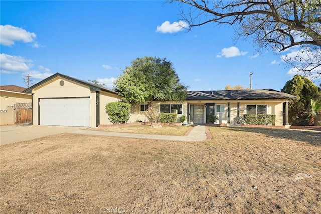
[[[0,147],[0,213],[319,213],[321,133],[59,134]]]

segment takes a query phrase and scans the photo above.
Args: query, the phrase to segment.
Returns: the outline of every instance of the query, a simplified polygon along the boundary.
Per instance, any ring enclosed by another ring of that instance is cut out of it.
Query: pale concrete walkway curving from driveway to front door
[[[203,141],[207,139],[205,126],[194,126],[188,136],[134,134],[134,133],[123,133],[123,132],[92,131],[92,130],[83,130],[83,129],[77,129],[69,133],[112,136],[112,137],[131,137],[131,138],[143,138],[143,139],[155,139],[155,140],[172,140],[172,141]]]

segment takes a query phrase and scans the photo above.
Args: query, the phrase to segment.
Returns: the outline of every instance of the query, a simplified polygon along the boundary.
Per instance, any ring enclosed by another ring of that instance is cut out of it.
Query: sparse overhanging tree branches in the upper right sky
[[[321,77],[320,0],[170,0],[178,2],[189,30],[211,22],[235,26],[237,39],[252,39],[273,51],[299,49],[283,57],[292,71]]]

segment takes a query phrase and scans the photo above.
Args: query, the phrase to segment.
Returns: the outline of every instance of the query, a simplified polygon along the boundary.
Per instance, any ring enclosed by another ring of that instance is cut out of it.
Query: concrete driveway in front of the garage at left
[[[84,127],[69,126],[0,126],[0,146],[20,142],[24,140],[32,140],[39,137],[45,137],[53,134],[72,132]]]

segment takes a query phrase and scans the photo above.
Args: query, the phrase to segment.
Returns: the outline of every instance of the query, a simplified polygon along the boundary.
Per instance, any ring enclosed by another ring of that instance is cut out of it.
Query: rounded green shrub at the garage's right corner
[[[123,102],[112,102],[106,105],[109,121],[113,124],[125,123],[129,120],[130,104]]]

